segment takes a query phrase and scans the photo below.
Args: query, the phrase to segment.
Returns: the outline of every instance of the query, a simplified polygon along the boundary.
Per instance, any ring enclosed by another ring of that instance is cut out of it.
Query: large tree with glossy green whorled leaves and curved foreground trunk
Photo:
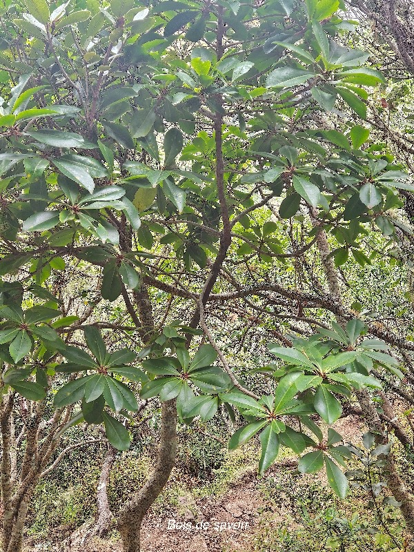
[[[413,498],[368,393],[382,380],[399,388],[399,354],[412,384],[413,342],[348,304],[340,279],[346,263],[367,266],[375,248],[406,233],[395,212],[400,190],[413,187],[390,152],[368,142],[368,95],[386,81],[348,45],[356,23],[339,17],[345,8],[339,0],[5,3],[5,551],[21,549],[28,501],[64,429],[103,424],[110,444],[126,450],[138,395],[161,402],[162,429],[154,473],[119,514],[126,552],[139,551],[141,521],[174,466],[177,418],[209,420],[223,404],[247,422],[230,447],[259,435],[261,473],[282,444],[305,453],[299,471],[325,467],[344,497],[342,468],[355,450],[320,426],[353,393],[414,534]],[[90,282],[83,313],[77,271]],[[231,366],[211,322],[219,308],[246,329],[264,319],[268,353],[254,374]],[[286,335],[286,319],[295,335]],[[269,364],[269,353],[284,364]],[[36,461],[13,489],[19,397],[35,412],[23,429]],[[55,426],[42,455],[40,412],[52,397]]]

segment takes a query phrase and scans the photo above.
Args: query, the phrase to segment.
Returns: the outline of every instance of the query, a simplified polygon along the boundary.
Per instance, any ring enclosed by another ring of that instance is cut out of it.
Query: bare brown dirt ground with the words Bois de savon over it
[[[335,428],[346,442],[360,440],[363,428],[354,417],[338,420]],[[295,460],[285,458],[272,466],[266,475],[277,477],[283,466],[293,466]],[[321,482],[325,474],[319,474]],[[253,538],[259,529],[259,510],[264,497],[259,490],[255,471],[242,478],[222,495],[194,499],[179,498],[179,504],[163,511],[162,516],[149,513],[141,529],[141,552],[252,552]],[[87,527],[86,527],[87,528]],[[108,540],[93,539],[82,546],[72,546],[67,535],[55,538],[55,552],[121,552],[121,545]],[[27,552],[50,550],[50,547],[28,546]]]

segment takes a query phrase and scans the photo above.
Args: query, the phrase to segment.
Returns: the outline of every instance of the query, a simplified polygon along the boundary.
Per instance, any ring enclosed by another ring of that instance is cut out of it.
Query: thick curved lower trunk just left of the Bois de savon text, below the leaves
[[[157,465],[152,475],[138,493],[121,509],[118,530],[121,533],[124,552],[140,551],[140,531],[144,515],[155,501],[175,465],[177,452],[177,408],[175,400],[161,406],[161,437]]]

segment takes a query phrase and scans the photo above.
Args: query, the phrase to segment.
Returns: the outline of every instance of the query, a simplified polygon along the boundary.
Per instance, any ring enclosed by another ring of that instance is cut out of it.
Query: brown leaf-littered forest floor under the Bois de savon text
[[[353,417],[337,422],[337,431],[347,441],[358,441],[360,424]],[[282,457],[266,472],[266,481],[281,480],[282,472],[295,466],[293,457]],[[232,480],[212,493],[197,496],[186,492],[176,500],[152,508],[141,529],[142,552],[255,552],[264,550],[268,531],[277,529],[288,515],[286,504],[264,492],[264,478],[258,477],[257,466],[237,471]],[[326,485],[325,474],[311,477]],[[275,491],[282,495],[282,491]],[[269,506],[270,504],[270,506]],[[87,529],[88,524],[84,524]],[[27,552],[52,550],[54,552],[121,552],[116,533],[110,540],[92,539],[82,546],[73,546],[55,535],[51,546],[38,542],[28,546]]]

